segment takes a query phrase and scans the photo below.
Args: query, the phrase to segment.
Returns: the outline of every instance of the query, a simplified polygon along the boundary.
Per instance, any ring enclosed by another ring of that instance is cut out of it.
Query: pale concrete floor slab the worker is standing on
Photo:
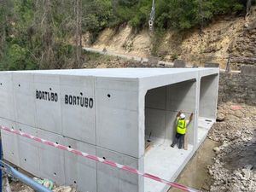
[[[168,181],[174,181],[182,171],[193,152],[193,146],[188,150],[171,148],[171,142],[153,144],[145,154],[145,172],[154,174]],[[166,192],[168,188],[162,183],[144,180],[144,192]]]

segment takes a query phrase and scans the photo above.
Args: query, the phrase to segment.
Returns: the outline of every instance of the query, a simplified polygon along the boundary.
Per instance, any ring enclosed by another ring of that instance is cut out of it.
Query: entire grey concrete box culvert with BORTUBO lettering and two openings
[[[0,79],[1,125],[171,181],[216,119],[218,68],[20,71]],[[170,147],[180,110],[195,114],[188,150]],[[2,139],[5,160],[82,192],[167,190],[6,131]]]

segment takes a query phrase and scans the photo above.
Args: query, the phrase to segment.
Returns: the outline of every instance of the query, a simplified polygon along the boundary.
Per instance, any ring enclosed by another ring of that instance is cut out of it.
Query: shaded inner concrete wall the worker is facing
[[[196,101],[195,80],[170,84],[148,90],[145,96],[146,135],[172,140],[176,132],[176,115],[182,111],[189,119],[195,113]],[[194,143],[195,126],[192,121],[188,127],[189,143]]]

